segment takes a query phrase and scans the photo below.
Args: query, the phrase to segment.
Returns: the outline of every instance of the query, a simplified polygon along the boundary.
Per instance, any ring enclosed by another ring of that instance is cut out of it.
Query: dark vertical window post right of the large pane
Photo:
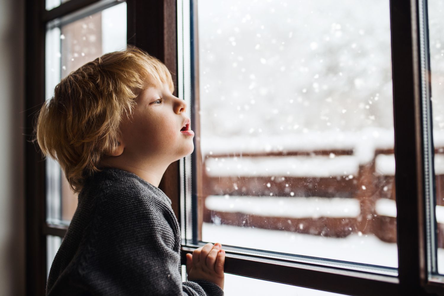
[[[390,1],[390,19],[399,280],[416,295],[427,274],[418,1]]]

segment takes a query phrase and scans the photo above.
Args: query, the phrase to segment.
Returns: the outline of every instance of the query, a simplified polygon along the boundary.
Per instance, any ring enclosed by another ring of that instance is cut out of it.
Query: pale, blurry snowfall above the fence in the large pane
[[[202,139],[245,136],[251,128],[252,136],[392,129],[387,2],[289,1],[276,3],[273,13],[269,5],[198,6]]]

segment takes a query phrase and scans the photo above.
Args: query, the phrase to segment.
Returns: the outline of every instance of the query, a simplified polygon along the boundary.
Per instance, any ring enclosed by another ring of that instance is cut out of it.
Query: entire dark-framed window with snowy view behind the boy
[[[159,185],[182,259],[220,241],[226,291],[442,293],[443,2],[212,2],[30,3],[29,130],[63,76],[135,44],[192,106],[194,153]],[[26,149],[27,287],[43,295],[76,196]]]

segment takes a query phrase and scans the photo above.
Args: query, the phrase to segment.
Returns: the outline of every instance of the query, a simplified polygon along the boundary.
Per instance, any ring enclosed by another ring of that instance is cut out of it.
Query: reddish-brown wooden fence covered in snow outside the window
[[[332,237],[372,233],[396,242],[393,137],[378,128],[202,136],[202,222]],[[434,137],[444,146],[444,133]],[[436,152],[437,192],[444,193],[444,149]],[[440,200],[436,217],[444,223]]]

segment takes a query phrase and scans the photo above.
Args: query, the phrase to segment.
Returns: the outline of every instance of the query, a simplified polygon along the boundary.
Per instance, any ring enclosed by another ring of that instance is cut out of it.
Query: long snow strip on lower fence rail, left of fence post
[[[351,198],[325,197],[257,197],[208,196],[205,206],[218,212],[241,212],[249,215],[319,218],[357,217],[361,213],[359,201]]]

